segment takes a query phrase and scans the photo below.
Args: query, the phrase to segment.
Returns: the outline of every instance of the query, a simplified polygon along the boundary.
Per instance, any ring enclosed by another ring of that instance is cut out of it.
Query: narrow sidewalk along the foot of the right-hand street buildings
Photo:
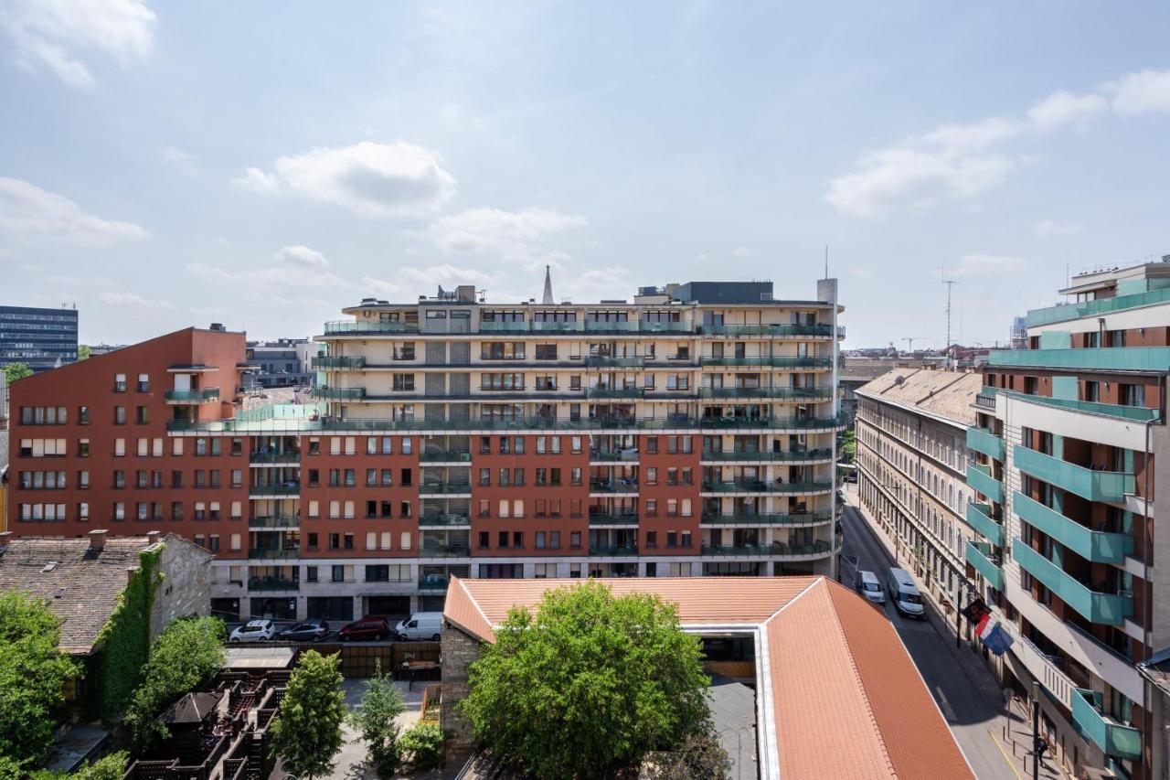
[[[895,563],[908,565],[908,561],[897,557],[894,543],[874,522],[869,512],[859,504],[856,490],[847,487],[844,493],[847,511],[852,509],[856,513],[862,525],[869,532],[869,535],[881,545],[889,559]],[[971,683],[971,689],[1000,713],[993,720],[982,724],[986,728],[989,739],[996,744],[996,747],[1003,753],[1004,759],[1011,765],[1017,776],[1020,780],[1027,780],[1032,776],[1032,718],[1030,703],[1025,699],[1013,697],[1010,707],[1006,705],[1004,692],[999,687],[996,673],[980,657],[982,648],[966,638],[961,639],[961,648],[955,646],[956,628],[954,608],[948,616],[947,610],[914,573],[913,567],[907,568],[907,570],[918,584],[918,590],[922,593],[923,601],[927,604],[927,618],[938,636],[944,639],[944,644],[948,648],[948,652],[951,654],[955,665],[963,671],[963,675]],[[964,634],[969,634],[969,630],[964,621]],[[1005,709],[1010,709],[1010,711],[1005,712]],[[1049,757],[1040,765],[1039,776],[1047,780],[1067,780],[1071,775]]]

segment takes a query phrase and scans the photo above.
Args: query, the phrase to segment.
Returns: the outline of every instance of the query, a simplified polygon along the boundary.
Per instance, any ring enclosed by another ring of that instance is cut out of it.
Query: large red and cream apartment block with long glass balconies
[[[317,337],[317,404],[247,411],[242,334],[179,331],[15,383],[13,531],[167,526],[241,618],[438,610],[450,576],[831,575],[841,310],[835,280],[366,299]]]

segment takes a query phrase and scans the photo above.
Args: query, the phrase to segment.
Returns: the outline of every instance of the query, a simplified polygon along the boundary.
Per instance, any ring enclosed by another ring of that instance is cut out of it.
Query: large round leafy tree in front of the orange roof
[[[697,637],[651,594],[587,582],[512,609],[459,704],[475,735],[538,778],[596,778],[673,750],[709,720]]]

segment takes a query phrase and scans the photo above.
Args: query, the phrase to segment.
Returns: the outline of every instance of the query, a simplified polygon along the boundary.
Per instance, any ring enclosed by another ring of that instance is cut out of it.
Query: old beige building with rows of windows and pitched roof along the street
[[[896,368],[856,391],[861,506],[936,601],[965,603],[965,547],[978,541],[966,485],[978,374]]]

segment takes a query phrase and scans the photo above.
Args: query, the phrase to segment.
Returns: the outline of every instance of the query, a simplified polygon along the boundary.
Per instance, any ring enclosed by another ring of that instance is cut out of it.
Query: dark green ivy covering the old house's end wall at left
[[[119,720],[142,682],[142,670],[150,657],[151,608],[163,581],[159,560],[164,548],[165,545],[154,545],[138,554],[138,570],[129,576],[98,635],[99,649],[89,664],[87,719]]]

